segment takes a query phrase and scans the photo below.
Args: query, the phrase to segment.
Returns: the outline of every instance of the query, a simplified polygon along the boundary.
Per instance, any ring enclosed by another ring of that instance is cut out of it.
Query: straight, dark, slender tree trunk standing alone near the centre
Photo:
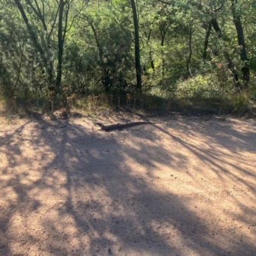
[[[141,63],[140,63],[140,35],[139,35],[139,21],[137,15],[136,4],[134,0],[131,0],[133,22],[134,22],[134,33],[135,33],[135,67],[136,67],[136,79],[137,88],[142,90],[141,81]]]

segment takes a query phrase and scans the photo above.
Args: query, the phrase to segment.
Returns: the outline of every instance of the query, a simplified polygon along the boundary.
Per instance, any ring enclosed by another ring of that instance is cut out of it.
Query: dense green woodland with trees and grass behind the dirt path
[[[1,0],[2,111],[253,116],[255,10],[255,0]]]

